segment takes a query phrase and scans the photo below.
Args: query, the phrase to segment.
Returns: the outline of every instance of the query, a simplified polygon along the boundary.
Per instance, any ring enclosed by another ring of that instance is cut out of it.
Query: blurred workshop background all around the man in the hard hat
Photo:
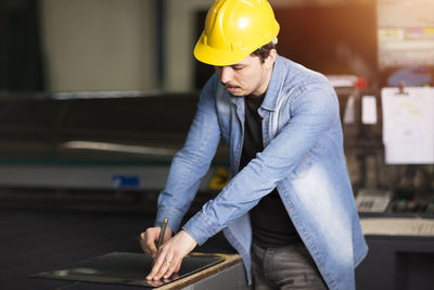
[[[139,235],[214,73],[192,53],[213,2],[1,1],[0,288],[136,288],[30,276],[142,252]],[[434,3],[269,2],[278,53],[324,74],[339,97],[370,249],[357,289],[432,289]],[[413,93],[413,111],[391,111],[395,94]],[[186,218],[219,193],[228,168],[221,142]],[[220,234],[195,251],[235,253]]]

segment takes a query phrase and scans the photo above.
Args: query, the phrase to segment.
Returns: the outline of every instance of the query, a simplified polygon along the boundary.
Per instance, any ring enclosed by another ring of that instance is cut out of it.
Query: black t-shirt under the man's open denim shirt
[[[261,118],[257,113],[264,96],[245,97],[244,142],[240,171],[264,150]],[[277,189],[265,196],[250,212],[253,242],[259,247],[280,247],[299,242],[301,238],[291,222]]]

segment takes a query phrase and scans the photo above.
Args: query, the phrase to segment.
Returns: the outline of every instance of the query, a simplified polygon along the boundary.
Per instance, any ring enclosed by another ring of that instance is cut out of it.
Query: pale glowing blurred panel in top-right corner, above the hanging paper
[[[434,66],[434,1],[379,0],[380,71]]]

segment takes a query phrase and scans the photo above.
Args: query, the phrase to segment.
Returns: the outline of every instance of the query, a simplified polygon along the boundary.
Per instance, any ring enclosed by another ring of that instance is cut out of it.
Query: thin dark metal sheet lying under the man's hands
[[[30,277],[155,288],[224,261],[225,259],[219,255],[192,253],[182,261],[178,274],[171,275],[168,279],[148,281],[145,276],[151,272],[152,265],[149,256],[143,253],[113,252]]]

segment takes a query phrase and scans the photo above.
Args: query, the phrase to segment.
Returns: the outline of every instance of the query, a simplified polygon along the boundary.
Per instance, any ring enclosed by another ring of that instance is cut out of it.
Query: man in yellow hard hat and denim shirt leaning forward
[[[256,289],[354,289],[367,253],[347,175],[337,98],[322,75],[277,54],[266,0],[217,0],[194,49],[214,65],[184,147],[141,235],[167,278],[196,244],[224,230]],[[220,137],[230,182],[178,231]],[[165,242],[155,242],[163,219]],[[173,238],[171,232],[177,232]]]

